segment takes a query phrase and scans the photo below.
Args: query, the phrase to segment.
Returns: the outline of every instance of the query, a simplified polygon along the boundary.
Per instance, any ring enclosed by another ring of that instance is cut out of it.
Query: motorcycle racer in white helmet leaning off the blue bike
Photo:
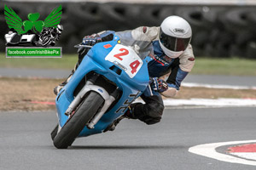
[[[119,36],[121,44],[137,47],[136,51],[139,56],[150,56],[152,60],[148,63],[150,77],[148,88],[141,95],[145,104],[131,104],[125,115],[107,127],[105,132],[113,130],[123,118],[139,119],[148,125],[160,122],[164,111],[161,95],[168,98],[175,97],[181,82],[195,64],[193,49],[189,43],[192,37],[189,23],[173,15],[163,20],[160,26],[141,26],[129,31],[102,31],[86,36],[81,45],[93,46],[97,42],[111,41],[113,33]],[[89,50],[89,48],[79,48],[79,61],[73,72]],[[67,84],[72,75],[54,89],[55,94],[58,94]]]

